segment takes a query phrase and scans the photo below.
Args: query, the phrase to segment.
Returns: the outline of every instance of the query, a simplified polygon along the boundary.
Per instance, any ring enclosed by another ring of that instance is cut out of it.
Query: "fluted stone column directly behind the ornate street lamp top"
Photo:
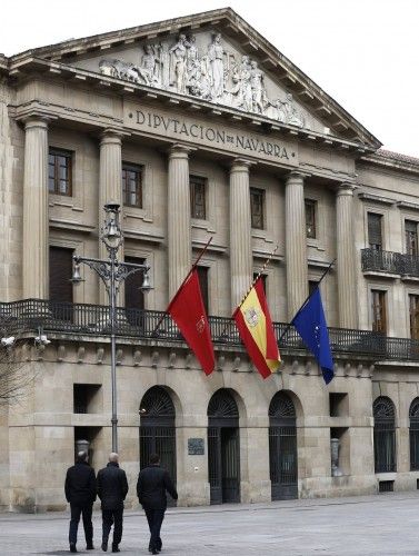
[[[103,206],[109,201],[121,206],[120,224],[122,226],[122,141],[121,135],[114,130],[104,130],[100,140],[99,168],[99,234],[104,220]],[[108,251],[99,238],[99,258],[108,259]],[[119,260],[123,260],[123,245],[119,248]],[[99,304],[108,305],[109,298],[100,280]],[[123,291],[119,292],[117,305],[123,305]]]

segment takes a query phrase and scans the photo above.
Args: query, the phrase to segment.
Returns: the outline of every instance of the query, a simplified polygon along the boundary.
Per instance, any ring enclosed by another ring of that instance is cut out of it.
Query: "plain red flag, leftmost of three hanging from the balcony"
[[[178,325],[204,374],[210,375],[216,359],[197,270],[178,289],[167,311]]]

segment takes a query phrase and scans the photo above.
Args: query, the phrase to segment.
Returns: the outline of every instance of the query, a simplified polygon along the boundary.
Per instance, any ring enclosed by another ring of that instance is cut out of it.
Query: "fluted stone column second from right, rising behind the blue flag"
[[[288,318],[308,296],[305,175],[292,171],[286,182],[286,262]]]

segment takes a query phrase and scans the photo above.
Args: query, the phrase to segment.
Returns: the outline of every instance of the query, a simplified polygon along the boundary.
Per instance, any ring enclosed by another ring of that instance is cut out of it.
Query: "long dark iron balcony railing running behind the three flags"
[[[182,341],[182,336],[164,315],[158,330],[156,327],[162,311],[117,308],[116,335],[142,341]],[[240,346],[239,332],[231,318],[209,317],[211,337],[216,346]],[[41,327],[44,334],[106,337],[110,332],[109,307],[87,304],[63,304],[39,299],[0,304],[0,327],[6,336],[34,335]],[[273,322],[280,349],[306,351],[301,338],[293,327],[287,330],[286,322]],[[341,355],[372,359],[419,361],[419,340],[387,338],[370,330],[329,328],[332,351]],[[281,338],[281,339],[280,339]]]

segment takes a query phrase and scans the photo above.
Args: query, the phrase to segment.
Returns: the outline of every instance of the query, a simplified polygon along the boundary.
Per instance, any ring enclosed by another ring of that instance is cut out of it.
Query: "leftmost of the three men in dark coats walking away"
[[[83,517],[86,548],[93,550],[93,525],[91,514],[96,500],[94,471],[88,464],[86,451],[79,451],[76,465],[67,469],[66,498],[70,503],[70,553],[77,553],[77,529],[79,528],[80,515]]]

